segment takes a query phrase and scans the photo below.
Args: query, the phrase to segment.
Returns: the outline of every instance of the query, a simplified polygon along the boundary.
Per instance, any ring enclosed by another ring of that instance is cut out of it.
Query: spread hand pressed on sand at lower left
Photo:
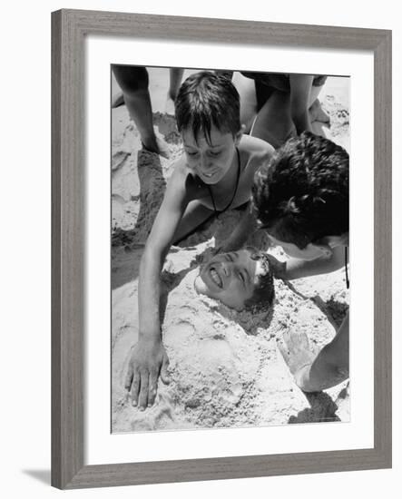
[[[169,358],[161,339],[145,338],[132,347],[124,387],[128,396],[132,396],[132,406],[140,410],[151,407],[155,401],[158,386],[158,377],[168,385],[170,382]]]

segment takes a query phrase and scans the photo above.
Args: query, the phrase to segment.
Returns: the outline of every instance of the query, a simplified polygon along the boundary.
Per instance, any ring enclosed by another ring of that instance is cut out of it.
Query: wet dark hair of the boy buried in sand
[[[244,302],[246,308],[255,308],[263,306],[264,308],[270,307],[275,296],[275,288],[273,283],[273,272],[270,269],[270,259],[267,254],[262,253],[251,247],[246,247],[251,253],[251,259],[258,260],[262,267],[262,273],[258,276],[255,284],[252,297]]]

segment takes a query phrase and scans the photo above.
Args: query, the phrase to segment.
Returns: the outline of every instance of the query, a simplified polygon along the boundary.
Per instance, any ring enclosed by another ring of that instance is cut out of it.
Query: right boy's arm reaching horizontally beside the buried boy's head
[[[273,257],[271,257],[273,259]],[[279,279],[300,279],[320,274],[328,274],[341,269],[345,265],[345,247],[337,246],[332,249],[330,258],[320,258],[313,260],[288,259],[282,262],[275,271],[275,276]]]

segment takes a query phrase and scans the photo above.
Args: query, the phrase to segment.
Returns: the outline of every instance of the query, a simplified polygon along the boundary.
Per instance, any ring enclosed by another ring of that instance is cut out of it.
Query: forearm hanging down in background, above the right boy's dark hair
[[[290,74],[290,114],[298,135],[313,132],[309,120],[309,95],[313,84],[311,74]]]

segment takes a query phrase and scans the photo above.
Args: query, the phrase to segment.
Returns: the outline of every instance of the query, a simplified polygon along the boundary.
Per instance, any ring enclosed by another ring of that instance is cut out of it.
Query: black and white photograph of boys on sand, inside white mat
[[[112,432],[348,422],[350,78],[111,80]]]

